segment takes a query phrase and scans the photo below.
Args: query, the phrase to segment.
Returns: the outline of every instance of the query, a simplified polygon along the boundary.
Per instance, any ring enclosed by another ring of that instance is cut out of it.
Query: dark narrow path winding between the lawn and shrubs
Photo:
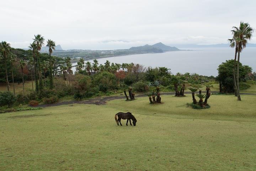
[[[191,94],[191,92],[184,92],[185,94]],[[205,93],[205,91],[202,91]],[[212,93],[218,93],[218,91],[212,91]],[[241,95],[256,95],[252,93],[240,93]],[[163,92],[161,95],[175,95],[175,92]],[[147,97],[146,95],[137,95],[135,97]],[[95,104],[95,105],[105,105],[107,101],[116,100],[116,99],[126,99],[125,96],[107,96],[107,97],[97,97],[91,98],[85,101],[67,101],[67,102],[59,102],[49,105],[38,105],[37,107],[51,107],[51,106],[60,106],[60,105],[72,105],[72,104]]]

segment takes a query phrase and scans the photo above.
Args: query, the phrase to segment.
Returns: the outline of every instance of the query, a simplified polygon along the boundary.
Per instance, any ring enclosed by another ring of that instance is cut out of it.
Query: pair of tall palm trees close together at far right
[[[239,62],[240,62],[240,53],[246,47],[248,40],[252,38],[252,33],[254,29],[250,27],[249,23],[240,22],[239,27],[233,27],[231,30],[233,37],[228,39],[230,41],[230,47],[235,47],[235,61],[233,68],[233,82],[235,96],[238,97],[238,101],[241,101],[240,90],[239,90]],[[237,62],[236,62],[237,57]]]

